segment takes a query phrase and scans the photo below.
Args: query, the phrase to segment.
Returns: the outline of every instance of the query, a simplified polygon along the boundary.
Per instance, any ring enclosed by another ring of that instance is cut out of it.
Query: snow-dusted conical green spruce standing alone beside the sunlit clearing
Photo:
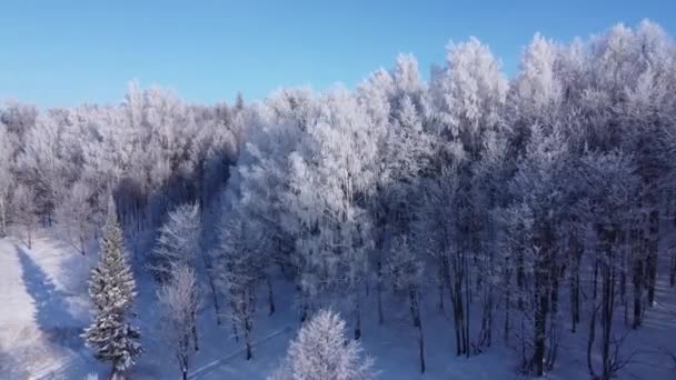
[[[112,364],[113,378],[123,379],[123,372],[133,366],[135,357],[142,352],[142,348],[138,342],[139,330],[128,322],[136,283],[127,263],[122,231],[112,201],[109,204],[99,263],[91,271],[89,281],[96,316],[83,338],[98,360]]]

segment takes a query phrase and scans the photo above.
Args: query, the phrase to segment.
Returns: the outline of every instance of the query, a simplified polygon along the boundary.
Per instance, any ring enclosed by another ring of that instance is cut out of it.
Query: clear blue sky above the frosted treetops
[[[352,87],[418,57],[424,77],[449,40],[476,36],[514,73],[536,31],[568,41],[649,18],[672,36],[676,0],[31,1],[0,0],[0,99],[39,107],[117,103],[127,82],[188,101],[238,90]]]

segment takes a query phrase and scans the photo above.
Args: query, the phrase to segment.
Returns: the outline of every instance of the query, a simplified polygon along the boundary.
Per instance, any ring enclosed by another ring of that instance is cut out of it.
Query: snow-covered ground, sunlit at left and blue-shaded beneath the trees
[[[86,279],[93,254],[81,256],[50,230],[40,231],[33,249],[16,238],[0,240],[0,379],[82,379],[89,372],[105,376],[79,338],[89,322]],[[146,353],[133,369],[133,379],[177,379],[179,372],[171,351],[157,339],[157,306],[150,279],[137,279],[137,304]],[[200,313],[201,350],[191,366],[191,379],[265,379],[281,360],[298,319],[288,307],[290,293],[277,289],[278,310],[267,316],[260,299],[260,317],[255,328],[255,358],[246,361],[230,324],[217,326],[208,299]],[[676,379],[675,362],[657,353],[676,351],[676,293],[662,286],[657,304],[648,310],[645,327],[629,336],[627,351],[643,353],[623,371],[624,379]],[[404,311],[386,313],[386,324],[376,324],[376,314],[365,311],[364,348],[376,359],[381,379],[513,379],[515,353],[496,346],[470,359],[454,356],[450,317],[437,309],[436,297],[427,297],[424,308],[427,369],[418,373],[415,330]],[[386,300],[386,304],[405,300]],[[372,303],[372,302],[371,302]],[[550,379],[588,379],[585,361],[586,328],[565,334],[556,369]],[[571,338],[573,337],[573,338]],[[650,353],[654,352],[654,353]]]

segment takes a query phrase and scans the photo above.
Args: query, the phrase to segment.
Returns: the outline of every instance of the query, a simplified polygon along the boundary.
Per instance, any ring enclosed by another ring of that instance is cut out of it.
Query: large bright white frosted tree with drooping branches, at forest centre
[[[365,200],[375,184],[376,141],[370,119],[354,96],[337,89],[320,101],[307,149],[289,158],[290,191],[285,197],[299,221],[296,253],[304,272],[302,298],[321,300],[336,287],[347,289],[358,339],[372,240]]]

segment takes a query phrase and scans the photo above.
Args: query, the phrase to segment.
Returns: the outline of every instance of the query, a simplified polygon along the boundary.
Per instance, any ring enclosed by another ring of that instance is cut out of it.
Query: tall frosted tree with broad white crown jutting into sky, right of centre
[[[458,316],[460,304],[465,303],[461,307],[465,317],[456,321],[461,321],[459,330],[465,334],[460,339],[465,343],[460,344],[459,351],[466,354],[470,353],[473,320],[469,318],[469,299],[473,298],[469,287],[474,288],[475,284],[484,293],[481,310],[485,321],[477,346],[490,346],[494,302],[487,278],[493,271],[490,266],[495,262],[495,249],[487,239],[493,223],[490,213],[481,210],[489,210],[493,204],[489,194],[481,191],[487,189],[481,187],[484,179],[478,177],[476,167],[483,159],[488,136],[505,129],[503,110],[506,96],[507,80],[500,71],[499,61],[476,38],[464,43],[450,43],[447,47],[446,68],[436,71],[430,81],[433,109],[429,123],[439,139],[435,169],[437,176],[453,171],[453,177],[456,177],[454,191],[457,192],[453,212],[458,220],[454,227],[455,240],[450,242],[453,248],[444,251],[444,254],[455,254],[453,261],[459,266],[443,263],[441,273],[457,270],[455,276],[450,276],[465,279],[456,283],[460,289],[451,290],[453,299],[456,299],[451,301]],[[458,148],[461,149],[461,154],[458,154]],[[448,167],[455,169],[449,171]],[[471,257],[471,266],[464,264],[466,256]]]

